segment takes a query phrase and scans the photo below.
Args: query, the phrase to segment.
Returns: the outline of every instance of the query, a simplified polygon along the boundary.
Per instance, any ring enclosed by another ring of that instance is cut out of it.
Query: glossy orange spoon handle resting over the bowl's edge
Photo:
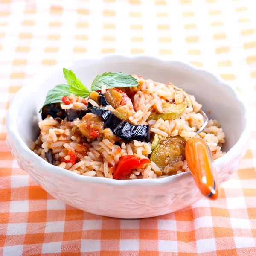
[[[212,200],[218,198],[218,177],[207,143],[199,136],[190,138],[185,148],[190,172],[201,193]]]

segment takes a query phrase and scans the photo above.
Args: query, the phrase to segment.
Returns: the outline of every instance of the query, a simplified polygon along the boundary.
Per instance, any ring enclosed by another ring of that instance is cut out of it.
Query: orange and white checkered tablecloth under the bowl
[[[0,255],[256,255],[254,0],[0,0]],[[253,131],[218,201],[120,220],[69,207],[6,146],[6,113],[26,81],[87,55],[147,54],[205,67],[247,97]]]

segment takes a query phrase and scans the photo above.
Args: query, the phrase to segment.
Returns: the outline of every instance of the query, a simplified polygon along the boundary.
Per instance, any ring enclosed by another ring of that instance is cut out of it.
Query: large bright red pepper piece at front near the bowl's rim
[[[113,174],[115,180],[125,180],[130,174],[132,169],[143,168],[144,164],[150,163],[149,159],[140,159],[135,156],[123,156],[120,157],[116,170]]]

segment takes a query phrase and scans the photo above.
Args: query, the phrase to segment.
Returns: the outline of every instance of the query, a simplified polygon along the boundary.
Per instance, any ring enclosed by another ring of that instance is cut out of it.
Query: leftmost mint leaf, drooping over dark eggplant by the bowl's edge
[[[44,105],[61,102],[63,96],[70,96],[70,86],[67,84],[59,84],[49,90],[45,98]],[[43,105],[43,106],[44,106]],[[40,109],[39,113],[42,111]]]

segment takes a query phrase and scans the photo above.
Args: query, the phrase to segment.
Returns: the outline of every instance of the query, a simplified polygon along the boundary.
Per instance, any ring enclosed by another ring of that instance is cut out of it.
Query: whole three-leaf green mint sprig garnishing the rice
[[[137,80],[131,75],[122,72],[105,72],[102,75],[96,76],[93,80],[90,91],[84,86],[81,80],[76,77],[72,70],[64,68],[63,74],[68,84],[59,84],[49,90],[44,105],[59,103],[63,96],[70,96],[71,93],[74,93],[76,96],[86,98],[90,95],[91,91],[101,90],[104,84],[106,85],[106,89],[115,87],[134,87],[139,85]],[[42,108],[39,112],[41,111]]]

